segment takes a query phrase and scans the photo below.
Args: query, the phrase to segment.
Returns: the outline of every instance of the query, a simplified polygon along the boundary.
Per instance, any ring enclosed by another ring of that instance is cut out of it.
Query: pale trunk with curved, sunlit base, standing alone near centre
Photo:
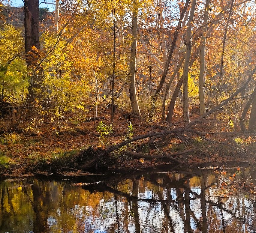
[[[131,100],[132,112],[140,116],[140,108],[137,100],[135,76],[136,76],[136,55],[137,55],[137,28],[138,28],[138,4],[137,0],[133,1],[131,35],[133,41],[131,43],[131,59],[129,74],[129,92]]]

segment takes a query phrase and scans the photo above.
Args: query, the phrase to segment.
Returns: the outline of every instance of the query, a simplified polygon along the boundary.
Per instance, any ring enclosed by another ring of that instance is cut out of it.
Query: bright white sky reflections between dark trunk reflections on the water
[[[201,188],[198,186],[191,187],[191,191],[197,194],[201,193]],[[214,192],[214,188],[209,189],[209,193]],[[164,200],[167,198],[167,189],[164,188],[163,191],[163,197]],[[173,200],[177,199],[176,196],[176,190],[175,188],[172,188],[170,190],[170,195]],[[149,189],[148,187],[145,187],[143,192],[138,193],[138,198],[141,199],[159,199],[158,195],[154,193],[152,189]],[[190,200],[190,210],[191,213],[193,213],[193,217],[191,215],[190,218],[190,226],[191,229],[195,232],[198,232],[198,224],[202,224],[200,221],[202,220],[202,211],[201,211],[201,200],[200,198],[195,198],[193,194],[190,193],[190,198],[194,200]],[[218,198],[215,196],[210,195],[208,197],[212,202],[218,203]],[[136,231],[135,225],[134,225],[134,210],[130,210],[130,205],[128,205],[128,212],[129,216],[126,216],[124,214],[124,202],[125,199],[118,196],[117,206],[118,206],[118,217],[119,217],[119,227],[120,232],[125,233],[125,226],[124,222],[125,219],[127,219],[128,222],[128,232],[133,233]],[[132,206],[132,201],[131,201]],[[244,206],[247,208],[246,213],[241,213],[241,207]],[[182,210],[180,209],[182,208]],[[228,198],[225,199],[223,208],[227,209],[231,213],[223,210],[223,218],[224,218],[224,224],[226,227],[232,225],[234,221],[237,221],[233,216],[240,218],[241,216],[246,218],[248,223],[253,224],[253,220],[255,218],[252,205],[250,201],[248,200],[242,200],[238,198]],[[249,211],[251,209],[251,211]],[[81,211],[79,213],[79,210]],[[77,212],[78,211],[78,212]],[[84,218],[84,208],[79,207],[76,205],[73,209],[73,214],[76,215],[76,218],[81,218],[81,221],[84,221],[85,224],[85,232],[93,232],[93,233],[106,233],[110,231],[111,226],[114,226],[117,221],[116,216],[116,209],[115,209],[115,198],[112,197],[110,200],[104,200],[102,199],[98,206],[97,206],[97,212],[99,213],[98,216],[93,216],[93,209],[86,207],[86,211],[88,211],[88,216],[85,219]],[[172,220],[173,224],[173,230],[175,233],[183,233],[185,231],[184,226],[184,220],[181,217],[181,212],[183,211],[184,217],[185,217],[185,205],[182,204],[182,206],[179,207],[178,202],[175,202],[174,204],[170,204],[169,206],[169,215]],[[209,211],[209,203],[206,203],[206,212]],[[138,214],[140,219],[140,232],[151,232],[151,233],[161,233],[163,232],[163,226],[167,227],[169,229],[169,232],[173,232],[170,227],[168,226],[168,220],[164,213],[163,204],[161,202],[146,202],[146,201],[138,201]],[[209,215],[209,214],[208,214]],[[214,217],[215,216],[215,217]],[[210,217],[210,218],[209,218]],[[217,221],[216,221],[217,220]],[[166,224],[163,224],[166,223]],[[208,216],[207,223],[210,223],[210,226],[212,229],[209,229],[210,232],[214,231],[222,231],[223,226],[221,222],[221,210],[218,206],[212,206],[211,207],[211,213]],[[50,216],[48,219],[49,226],[52,224],[56,224],[56,220]],[[242,230],[242,232],[253,232],[249,229],[248,225],[245,223],[238,223],[239,229]],[[116,232],[116,231],[115,231]]]

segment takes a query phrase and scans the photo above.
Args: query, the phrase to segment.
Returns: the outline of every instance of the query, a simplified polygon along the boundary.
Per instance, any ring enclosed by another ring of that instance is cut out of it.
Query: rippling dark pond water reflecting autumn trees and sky
[[[0,232],[256,232],[256,202],[215,196],[216,177],[173,169],[0,181]]]

